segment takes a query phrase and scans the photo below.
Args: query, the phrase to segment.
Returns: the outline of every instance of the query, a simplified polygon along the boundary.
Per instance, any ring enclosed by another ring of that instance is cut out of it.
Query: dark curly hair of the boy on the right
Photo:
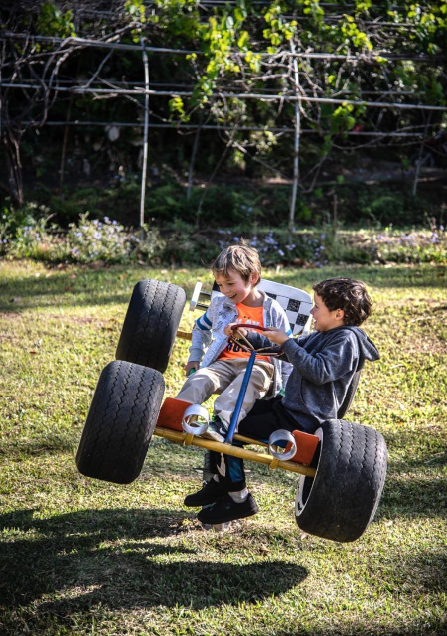
[[[333,278],[322,280],[312,289],[322,298],[329,311],[343,309],[343,323],[359,326],[371,315],[372,301],[361,280]]]

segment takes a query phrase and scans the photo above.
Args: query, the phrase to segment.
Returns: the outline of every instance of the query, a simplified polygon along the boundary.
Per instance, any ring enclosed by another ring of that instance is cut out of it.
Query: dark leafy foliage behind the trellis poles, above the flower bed
[[[225,188],[231,188],[222,205],[231,223],[238,222],[234,218],[238,212],[234,213],[233,199],[239,196],[235,179],[286,183],[292,176],[293,135],[277,128],[293,130],[294,102],[287,99],[297,92],[302,99],[301,127],[308,131],[303,133],[299,149],[299,223],[319,223],[319,216],[322,218],[324,210],[315,212],[308,201],[310,194],[324,184],[329,184],[326,191],[338,188],[343,185],[338,179],[350,181],[353,168],[362,180],[362,170],[366,176],[371,161],[382,167],[382,175],[373,183],[391,177],[395,191],[409,193],[415,153],[417,158],[423,139],[427,142],[423,152],[429,153],[437,168],[447,167],[447,152],[441,142],[434,141],[439,139],[437,134],[442,141],[443,112],[398,108],[446,104],[446,11],[445,0],[419,4],[355,0],[349,6],[319,0],[237,0],[225,5],[195,0],[147,4],[116,0],[95,3],[94,8],[83,1],[21,0],[0,11],[5,149],[1,186],[15,205],[25,200],[48,205],[43,189],[52,191],[51,212],[65,226],[86,211],[76,209],[74,203],[79,184],[95,191],[107,188],[124,218],[109,210],[107,216],[136,225],[144,95],[120,91],[143,85],[140,43],[144,42],[149,87],[158,93],[150,96],[149,121],[163,126],[149,129],[146,216],[152,215],[156,224],[172,216],[191,220],[199,211],[199,221],[208,225],[209,209],[214,207],[209,188],[217,177],[222,177]],[[14,38],[7,35],[10,33],[47,39]],[[135,50],[103,50],[64,40],[72,35],[119,41]],[[300,55],[299,85],[294,83],[291,44]],[[178,52],[160,53],[151,47]],[[303,57],[303,52],[322,57]],[[81,94],[79,86],[92,92]],[[109,93],[101,92],[104,90]],[[160,94],[163,90],[166,94]],[[246,99],[249,94],[282,96],[284,100]],[[306,101],[315,97],[329,101]],[[331,103],[331,99],[339,102]],[[351,104],[352,100],[357,104]],[[367,107],[359,100],[389,105]],[[48,121],[63,125],[49,126]],[[72,127],[65,121],[90,124]],[[195,128],[177,127],[176,123],[200,126],[200,137]],[[207,125],[219,129],[210,130]],[[387,136],[395,131],[416,132],[420,137]],[[383,136],[368,136],[375,133]],[[401,169],[397,176],[396,167],[397,172]],[[158,186],[168,188],[168,181],[174,180],[177,190],[186,195],[190,170],[195,175],[191,198],[168,193],[170,200],[165,197],[160,206],[163,195]],[[270,198],[277,200],[277,192],[280,189]],[[437,192],[442,200],[445,193],[439,188]],[[427,197],[431,204],[432,193]],[[275,225],[287,220],[289,195],[279,198],[281,209],[278,214],[275,209]],[[393,204],[382,204],[383,211],[376,214],[369,205],[373,198],[378,197],[369,194],[363,206],[350,198],[347,207],[352,212],[347,211],[345,220],[373,218],[407,224],[422,220],[413,213],[406,194],[397,204],[397,214]],[[134,201],[135,209],[133,205],[125,209],[126,200]],[[268,197],[255,205],[244,204],[272,223],[268,218],[273,216],[272,207],[266,201]],[[326,209],[330,205],[323,203]],[[434,216],[442,223],[439,203],[434,205]],[[425,212],[433,216],[427,209]],[[343,218],[345,206],[339,214]]]

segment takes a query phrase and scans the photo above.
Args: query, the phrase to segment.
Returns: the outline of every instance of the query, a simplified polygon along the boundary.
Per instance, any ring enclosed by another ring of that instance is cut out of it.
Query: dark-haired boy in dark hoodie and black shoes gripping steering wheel
[[[338,417],[354,374],[364,361],[379,357],[375,345],[359,329],[372,305],[364,283],[334,278],[314,285],[313,290],[315,331],[310,335],[292,339],[280,329],[272,328],[263,335],[239,329],[257,349],[269,342],[278,345],[282,357],[293,366],[284,397],[257,400],[239,424],[242,435],[268,439],[278,429],[315,432],[325,420]],[[230,329],[231,324],[227,335]],[[207,506],[198,519],[217,524],[255,515],[258,506],[247,490],[243,460],[217,452],[211,455],[219,482],[210,481],[188,498],[189,505]]]

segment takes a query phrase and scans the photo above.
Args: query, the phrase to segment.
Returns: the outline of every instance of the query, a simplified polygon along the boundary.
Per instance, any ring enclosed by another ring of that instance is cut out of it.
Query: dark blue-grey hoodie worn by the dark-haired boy
[[[250,333],[255,348],[268,346],[265,336]],[[282,399],[288,415],[309,432],[338,417],[356,371],[365,360],[379,359],[378,350],[359,327],[313,331],[281,345],[292,366]]]

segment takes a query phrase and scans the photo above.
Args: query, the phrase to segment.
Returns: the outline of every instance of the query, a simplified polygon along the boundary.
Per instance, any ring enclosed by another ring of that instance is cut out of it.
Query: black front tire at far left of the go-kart
[[[131,483],[148,452],[165,392],[159,371],[114,361],[102,370],[76,453],[87,477]]]

